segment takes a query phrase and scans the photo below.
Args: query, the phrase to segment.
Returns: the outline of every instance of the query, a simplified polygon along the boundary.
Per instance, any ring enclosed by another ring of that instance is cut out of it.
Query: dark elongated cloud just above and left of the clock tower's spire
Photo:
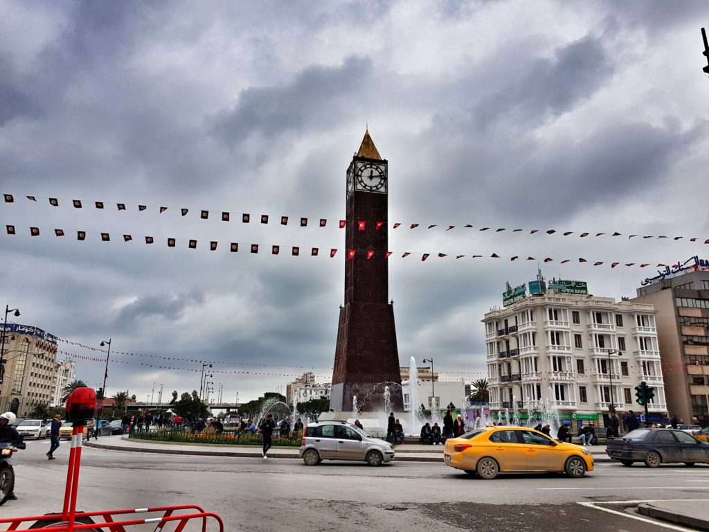
[[[340,67],[308,67],[290,84],[250,87],[240,92],[233,109],[212,119],[213,135],[225,143],[258,136],[264,142],[294,133],[327,130],[352,112],[372,75],[369,58],[347,57]]]

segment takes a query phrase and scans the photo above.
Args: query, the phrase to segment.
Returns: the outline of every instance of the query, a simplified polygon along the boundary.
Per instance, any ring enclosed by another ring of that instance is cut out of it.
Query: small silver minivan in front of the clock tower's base
[[[391,462],[391,443],[369,436],[362,429],[345,421],[308,423],[303,431],[299,456],[306,465],[318,465],[323,460],[357,460],[369,465]]]

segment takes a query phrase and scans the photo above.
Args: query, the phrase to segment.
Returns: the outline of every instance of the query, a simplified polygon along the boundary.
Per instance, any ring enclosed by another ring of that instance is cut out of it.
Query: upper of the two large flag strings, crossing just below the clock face
[[[90,205],[93,203],[94,207],[96,209],[105,209],[109,204],[108,202],[105,201],[85,201],[81,199],[64,199],[64,198],[45,198],[43,196],[24,196],[26,199],[29,201],[38,201],[38,198],[40,199],[46,199],[48,200],[50,206],[54,207],[59,207],[60,205],[69,203],[71,204],[74,209],[83,209],[84,204]],[[15,196],[14,194],[4,194],[4,199],[6,203],[14,203],[15,201]],[[235,220],[240,220],[242,223],[251,223],[252,218],[255,221],[258,221],[263,224],[269,224],[272,221],[277,221],[281,226],[287,226],[291,222],[292,219],[295,219],[296,223],[300,227],[308,227],[308,223],[310,218],[308,217],[303,217],[303,216],[272,216],[269,214],[261,214],[261,215],[252,215],[250,213],[235,213],[231,211],[209,211],[206,209],[193,209],[191,207],[171,207],[171,206],[153,206],[153,205],[148,205],[148,204],[126,204],[126,203],[116,203],[116,208],[118,211],[128,211],[128,208],[130,207],[131,210],[135,211],[137,209],[138,211],[149,211],[149,210],[155,210],[159,212],[159,214],[162,214],[168,210],[179,210],[179,213],[182,216],[187,216],[190,211],[192,212],[197,212],[199,213],[199,218],[202,220],[207,220],[211,215],[216,215],[220,216],[221,221],[232,221],[232,219]],[[315,218],[318,227],[326,227],[328,226],[328,218]],[[347,220],[347,219],[338,219],[337,220],[337,226],[340,229],[343,229],[347,226],[348,222],[354,222],[357,224],[357,228],[359,228],[360,231],[364,231],[367,226],[372,226],[374,227],[377,231],[381,229],[384,226],[389,227],[389,223],[386,223],[384,221],[376,221],[376,220]],[[691,237],[688,238],[686,236],[669,236],[669,235],[642,235],[640,233],[638,234],[626,234],[626,233],[620,233],[618,231],[613,231],[613,232],[598,232],[598,231],[557,231],[556,229],[530,229],[530,228],[493,228],[493,227],[488,227],[488,226],[473,226],[470,223],[466,223],[464,225],[450,225],[450,224],[440,224],[440,223],[401,223],[401,222],[396,222],[396,223],[391,223],[391,228],[392,229],[397,229],[397,228],[406,228],[408,227],[409,229],[416,229],[416,228],[426,228],[426,229],[433,229],[433,228],[439,228],[439,229],[444,229],[445,231],[451,231],[452,229],[455,228],[467,228],[467,229],[476,229],[477,231],[490,231],[491,233],[502,233],[503,231],[509,231],[510,233],[521,233],[521,232],[527,232],[529,231],[530,235],[534,235],[536,233],[539,234],[546,234],[546,235],[562,235],[562,236],[571,236],[571,235],[577,235],[579,238],[586,238],[586,237],[594,237],[594,238],[599,238],[602,236],[610,236],[610,237],[618,237],[618,236],[627,236],[628,239],[630,238],[655,238],[655,239],[671,239],[671,240],[688,240],[689,242],[695,242],[695,243],[700,243],[703,241],[705,244],[709,244],[709,238],[702,239],[698,237]]]

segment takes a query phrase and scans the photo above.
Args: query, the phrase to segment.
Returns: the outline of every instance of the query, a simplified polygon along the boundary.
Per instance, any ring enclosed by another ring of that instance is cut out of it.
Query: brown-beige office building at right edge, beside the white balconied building
[[[685,423],[700,421],[706,425],[709,424],[709,260],[697,260],[696,264],[696,271],[645,279],[632,301],[652,304],[657,310],[669,413]]]

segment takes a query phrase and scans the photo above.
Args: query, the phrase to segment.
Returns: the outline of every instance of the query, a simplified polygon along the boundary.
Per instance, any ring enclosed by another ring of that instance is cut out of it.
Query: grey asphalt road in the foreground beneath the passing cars
[[[62,440],[57,460],[47,460],[48,448],[48,441],[30,441],[18,453],[14,464],[19,500],[1,506],[0,516],[61,509],[69,443]],[[635,502],[618,503],[659,499],[691,499],[698,507],[707,506],[709,466],[649,470],[599,464],[577,480],[526,474],[484,481],[435,462],[395,461],[381,467],[323,462],[307,467],[294,459],[84,448],[77,507],[106,510],[194,503],[222,516],[228,531],[652,532],[669,528],[637,519]]]

